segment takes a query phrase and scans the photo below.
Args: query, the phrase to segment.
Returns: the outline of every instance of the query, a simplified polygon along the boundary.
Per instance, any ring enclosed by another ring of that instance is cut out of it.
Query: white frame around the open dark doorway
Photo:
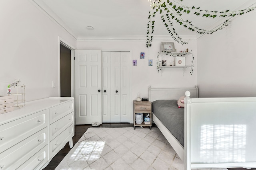
[[[67,41],[62,39],[61,37],[58,37],[58,96],[60,97],[60,45],[65,46],[66,48],[71,50],[71,97],[74,97],[75,94],[75,62],[74,62],[74,56],[75,56],[75,47],[70,45]]]

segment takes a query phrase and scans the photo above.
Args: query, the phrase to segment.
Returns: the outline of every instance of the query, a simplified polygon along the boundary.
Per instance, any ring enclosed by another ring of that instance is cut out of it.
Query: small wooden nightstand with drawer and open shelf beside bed
[[[146,124],[144,121],[142,123],[137,124],[135,121],[135,113],[143,113],[143,116],[146,116],[149,113],[150,122]],[[151,113],[151,102],[148,101],[133,101],[133,125],[134,129],[136,129],[136,126],[149,126],[151,129],[152,127],[152,113]]]

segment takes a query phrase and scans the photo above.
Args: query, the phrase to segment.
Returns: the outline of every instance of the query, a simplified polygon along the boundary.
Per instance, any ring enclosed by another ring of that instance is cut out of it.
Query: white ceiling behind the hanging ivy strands
[[[33,0],[62,27],[77,39],[88,37],[146,37],[148,0]],[[178,2],[178,1],[177,1]],[[237,10],[244,9],[256,0],[183,0],[186,6],[200,7],[204,10]],[[247,15],[247,14],[246,14]],[[203,18],[195,15],[182,15],[194,25],[204,29],[214,28],[223,22],[218,17]],[[168,36],[168,31],[161,21],[160,15],[154,18],[154,36]],[[175,22],[174,22],[175,23]],[[94,30],[86,27],[92,26]],[[177,23],[173,25],[180,36],[197,38],[197,33],[189,31]]]

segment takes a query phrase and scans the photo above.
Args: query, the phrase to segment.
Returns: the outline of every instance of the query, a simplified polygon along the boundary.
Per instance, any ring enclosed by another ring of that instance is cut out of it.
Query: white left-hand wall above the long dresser
[[[0,96],[16,78],[27,101],[58,96],[58,37],[74,47],[76,39],[30,0],[1,0],[0,23]]]

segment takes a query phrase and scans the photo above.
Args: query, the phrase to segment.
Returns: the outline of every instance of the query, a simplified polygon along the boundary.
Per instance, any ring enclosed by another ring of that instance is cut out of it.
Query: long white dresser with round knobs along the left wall
[[[73,147],[74,98],[45,98],[0,114],[0,170],[40,170],[67,142]]]

